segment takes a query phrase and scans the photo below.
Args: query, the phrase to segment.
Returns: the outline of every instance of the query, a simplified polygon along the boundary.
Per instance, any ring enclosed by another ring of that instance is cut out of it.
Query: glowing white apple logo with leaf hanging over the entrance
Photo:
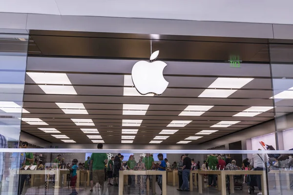
[[[163,70],[167,64],[164,61],[153,61],[158,55],[159,51],[155,51],[149,58],[150,62],[138,61],[132,68],[133,84],[142,95],[149,93],[161,95],[169,84],[163,76]]]

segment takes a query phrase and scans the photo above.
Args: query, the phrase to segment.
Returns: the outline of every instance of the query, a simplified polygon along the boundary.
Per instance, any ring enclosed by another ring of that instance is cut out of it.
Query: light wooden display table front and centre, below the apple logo
[[[133,170],[127,170],[127,171],[120,171],[119,172],[119,195],[123,195],[123,188],[124,188],[124,176],[126,175],[142,175],[142,176],[157,176],[162,175],[162,194],[167,195],[167,178],[166,178],[166,171],[133,171]],[[152,179],[152,193],[156,193],[156,179],[153,177]],[[148,179],[146,180],[146,191],[149,190],[149,182]]]

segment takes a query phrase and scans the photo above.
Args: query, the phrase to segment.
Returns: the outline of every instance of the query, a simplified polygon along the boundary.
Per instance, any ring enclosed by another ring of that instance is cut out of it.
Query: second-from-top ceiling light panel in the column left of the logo
[[[77,95],[70,85],[39,85],[46,94]]]

